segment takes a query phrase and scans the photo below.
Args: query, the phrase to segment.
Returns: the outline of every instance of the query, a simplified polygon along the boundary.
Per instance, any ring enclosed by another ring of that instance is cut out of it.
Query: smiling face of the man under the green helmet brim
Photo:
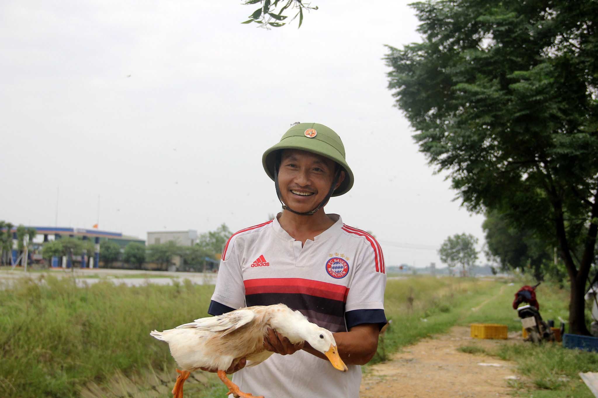
[[[285,205],[297,212],[308,212],[324,200],[336,163],[324,156],[303,150],[285,149],[280,156],[278,184]],[[337,186],[343,181],[341,172]]]

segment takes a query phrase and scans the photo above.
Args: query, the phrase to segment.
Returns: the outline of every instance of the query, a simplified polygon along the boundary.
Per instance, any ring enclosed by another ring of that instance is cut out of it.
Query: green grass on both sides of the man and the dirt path
[[[373,362],[453,325],[491,322],[520,330],[510,307],[517,288],[505,282],[449,277],[389,280],[385,306],[392,323]],[[87,382],[101,385],[116,371],[125,375],[150,367],[172,371],[175,364],[167,345],[154,341],[149,331],[204,316],[212,291],[213,286],[188,281],[129,288],[100,280],[81,289],[69,278],[46,276],[42,284],[22,279],[0,290],[0,396],[78,396]],[[538,299],[544,318],[566,319],[567,296],[567,291],[542,285]],[[535,397],[590,397],[576,373],[598,371],[595,354],[558,346],[505,345],[485,353],[474,343],[463,350],[515,360],[530,380],[514,385],[523,396],[533,390]],[[225,391],[210,377],[202,394],[185,395],[207,398]]]

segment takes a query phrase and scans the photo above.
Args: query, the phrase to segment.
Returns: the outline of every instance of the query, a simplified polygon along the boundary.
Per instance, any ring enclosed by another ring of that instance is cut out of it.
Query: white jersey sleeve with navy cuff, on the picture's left
[[[234,240],[233,237],[229,243],[226,257],[220,260],[216,288],[208,309],[210,315],[221,315],[245,306],[245,285]]]

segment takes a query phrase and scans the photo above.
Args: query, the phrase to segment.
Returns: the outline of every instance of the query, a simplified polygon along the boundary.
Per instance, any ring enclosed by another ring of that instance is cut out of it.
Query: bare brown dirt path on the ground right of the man
[[[501,397],[508,396],[515,363],[486,355],[462,353],[457,348],[477,345],[492,350],[505,340],[469,337],[470,329],[454,326],[449,334],[426,338],[373,365],[364,374],[360,398],[384,397]],[[509,343],[517,343],[517,332]]]

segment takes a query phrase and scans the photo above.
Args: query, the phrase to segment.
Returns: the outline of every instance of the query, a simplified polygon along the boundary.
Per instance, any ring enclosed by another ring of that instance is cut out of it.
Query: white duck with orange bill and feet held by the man
[[[243,393],[228,380],[225,369],[234,360],[242,358],[246,358],[247,367],[268,359],[272,354],[264,348],[268,328],[279,332],[292,344],[307,341],[315,350],[325,354],[334,368],[343,372],[347,370],[338,355],[332,333],[284,304],[239,308],[220,316],[196,319],[175,329],[152,331],[150,335],[169,344],[170,354],[183,369],[176,369],[179,376],[172,390],[175,398],[182,398],[183,383],[190,372],[199,368],[218,369],[218,377],[227,385],[228,394],[250,398],[254,396]]]

